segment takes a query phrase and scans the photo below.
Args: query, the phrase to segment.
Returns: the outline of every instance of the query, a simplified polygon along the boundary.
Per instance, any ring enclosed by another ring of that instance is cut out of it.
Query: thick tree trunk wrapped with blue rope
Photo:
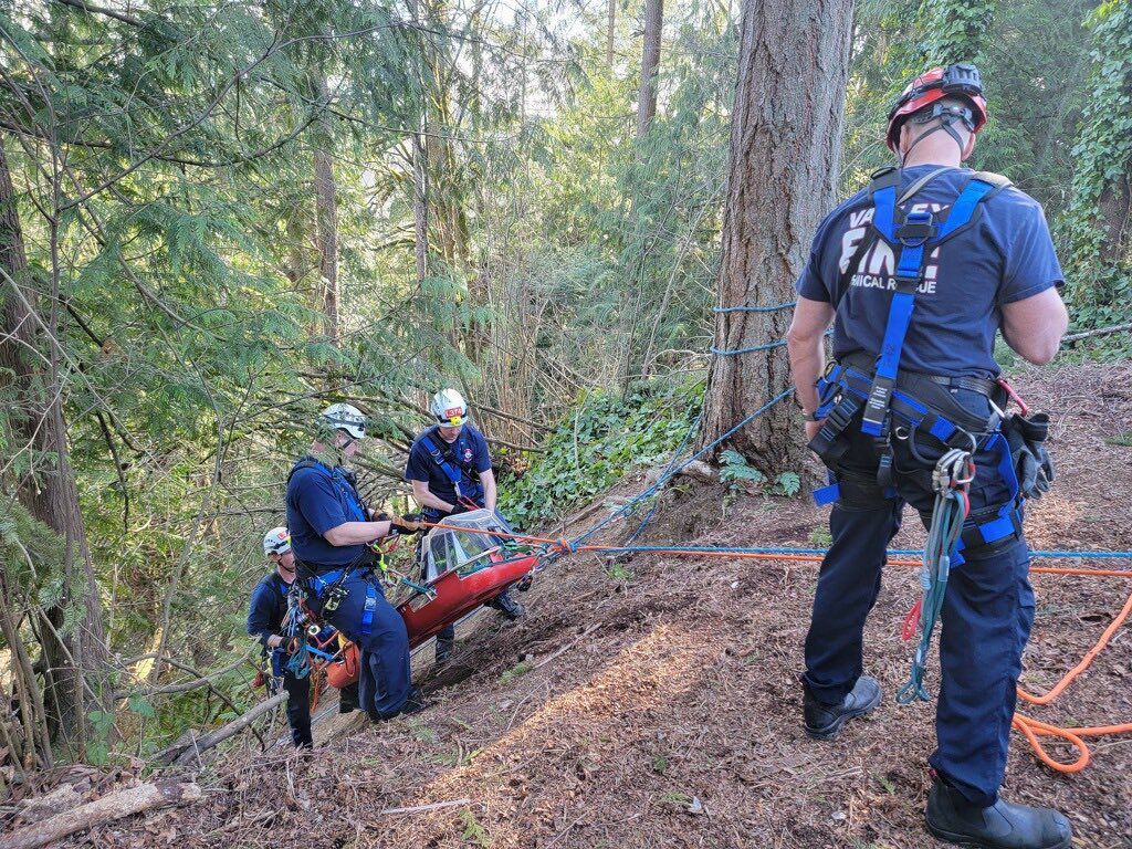
[[[719,303],[773,306],[794,282],[840,173],[852,0],[747,0],[731,121]],[[790,310],[720,312],[715,346],[779,343]],[[715,355],[701,445],[790,386],[786,348]],[[775,404],[728,439],[767,475],[805,462],[797,406]]]

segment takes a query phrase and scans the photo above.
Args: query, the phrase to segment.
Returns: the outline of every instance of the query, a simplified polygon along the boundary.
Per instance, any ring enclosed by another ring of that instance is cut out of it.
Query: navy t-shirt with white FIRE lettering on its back
[[[901,186],[910,186],[936,168],[904,169]],[[906,213],[933,212],[942,218],[970,174],[968,169],[946,171],[901,208]],[[1063,283],[1038,201],[1007,187],[979,206],[983,212],[975,224],[936,248],[928,260],[900,354],[902,371],[997,377],[1001,369],[994,359],[994,340],[1002,324],[1003,305]],[[867,190],[830,213],[817,229],[809,261],[796,285],[801,297],[837,308],[837,359],[857,351],[875,358],[884,338],[895,261],[883,239],[877,239],[847,284],[841,284],[872,220]]]

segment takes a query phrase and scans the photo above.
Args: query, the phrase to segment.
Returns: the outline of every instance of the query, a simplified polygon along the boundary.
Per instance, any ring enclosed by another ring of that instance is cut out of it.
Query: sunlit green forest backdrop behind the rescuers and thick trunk
[[[145,756],[255,700],[259,541],[331,401],[369,415],[363,488],[397,508],[445,385],[524,528],[667,458],[734,306],[743,11],[0,2],[9,770]],[[1045,205],[1071,332],[1132,321],[1129,2],[861,0],[842,192],[890,163],[893,96],[958,60],[990,110],[971,164]]]

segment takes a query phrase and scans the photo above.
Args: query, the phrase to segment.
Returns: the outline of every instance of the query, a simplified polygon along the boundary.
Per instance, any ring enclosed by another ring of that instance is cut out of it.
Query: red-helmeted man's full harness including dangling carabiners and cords
[[[920,640],[909,681],[898,696],[902,703],[928,698],[923,685],[925,663],[951,567],[963,563],[964,551],[968,556],[989,552],[1020,539],[1026,498],[1040,497],[1053,479],[1053,465],[1041,445],[1048,431],[1048,419],[1041,414],[1023,418],[1024,405],[1022,415],[1007,415],[1004,412],[1007,396],[1017,396],[1004,381],[900,371],[900,355],[911,324],[916,292],[925,282],[933,252],[970,229],[979,220],[984,203],[1011,185],[998,174],[976,172],[942,221],[936,221],[934,214],[926,211],[902,214],[901,206],[906,201],[949,170],[937,169],[899,195],[901,173],[898,169],[885,169],[873,175],[869,186],[874,206],[872,225],[849,260],[839,291],[848,290],[848,277],[877,240],[892,250],[894,291],[881,351],[875,360],[859,352],[830,363],[817,381],[820,405],[815,417],[823,420],[823,424],[809,443],[809,448],[832,470],[834,478],[833,483],[814,492],[818,504],[851,499],[859,494],[895,497],[895,472],[924,490],[935,492],[928,546],[920,571],[924,598],[906,624],[906,636],[910,637],[918,629]],[[964,410],[952,396],[957,389],[985,396],[993,411],[989,418]],[[859,472],[842,464],[851,446],[848,429],[855,422],[863,434],[873,438],[880,458],[875,481],[863,481]],[[918,438],[924,437],[938,445],[919,445]],[[916,463],[912,469],[895,469],[893,439],[907,446]],[[925,447],[931,449],[925,453]],[[1001,506],[970,515],[968,490],[975,477],[972,458],[980,449],[996,457],[997,472],[1006,483],[1009,496]],[[1036,472],[1028,473],[1035,469]],[[1020,487],[1020,480],[1024,481],[1024,487]],[[914,623],[914,618],[918,621]]]

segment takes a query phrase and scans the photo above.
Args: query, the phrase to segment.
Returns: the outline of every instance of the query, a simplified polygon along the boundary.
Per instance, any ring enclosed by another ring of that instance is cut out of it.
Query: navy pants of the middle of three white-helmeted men
[[[323,617],[358,644],[360,679],[359,706],[381,717],[402,709],[412,688],[409,663],[409,634],[401,614],[385,599],[376,578],[352,577],[343,582],[346,598],[333,612]],[[371,599],[374,620],[369,634],[362,634],[367,597]],[[321,607],[321,599],[318,601]]]

